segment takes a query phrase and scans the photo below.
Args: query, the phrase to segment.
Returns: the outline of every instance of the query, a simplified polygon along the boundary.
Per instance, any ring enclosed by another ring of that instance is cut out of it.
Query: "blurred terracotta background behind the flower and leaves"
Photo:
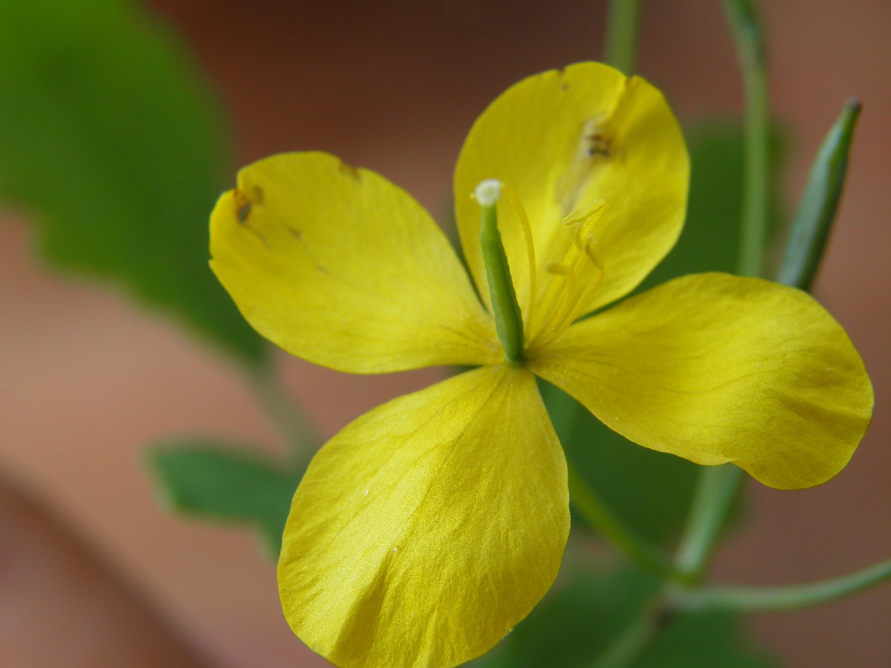
[[[244,163],[323,149],[446,206],[470,123],[520,77],[599,57],[604,6],[439,0],[253,3],[155,0],[231,110]],[[817,295],[860,348],[877,416],[851,465],[798,493],[749,485],[752,519],[718,559],[738,582],[828,577],[891,557],[891,4],[764,2],[773,108],[795,128],[784,183],[800,191],[846,96],[864,103]],[[740,109],[720,4],[644,3],[639,70],[683,118]],[[278,452],[229,363],[113,289],[38,265],[24,221],[0,223],[0,468],[45,499],[222,666],[322,665],[283,622],[274,571],[249,534],[168,517],[143,444],[183,433]],[[434,372],[362,378],[282,356],[290,388],[330,435]],[[792,666],[891,663],[891,586],[756,619]]]

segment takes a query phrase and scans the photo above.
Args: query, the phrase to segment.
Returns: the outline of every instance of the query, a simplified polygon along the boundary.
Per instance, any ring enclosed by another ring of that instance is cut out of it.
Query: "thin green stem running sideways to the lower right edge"
[[[822,582],[787,587],[738,587],[715,584],[693,591],[676,591],[672,596],[672,603],[674,607],[685,610],[780,612],[844,599],[888,580],[891,580],[891,559]]]

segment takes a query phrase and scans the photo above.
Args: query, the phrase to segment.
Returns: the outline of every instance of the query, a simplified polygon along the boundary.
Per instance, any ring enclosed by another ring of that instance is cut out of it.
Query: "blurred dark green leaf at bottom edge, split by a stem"
[[[577,574],[474,668],[590,668],[640,618],[659,584],[639,571]],[[627,668],[767,668],[731,615],[674,617]]]

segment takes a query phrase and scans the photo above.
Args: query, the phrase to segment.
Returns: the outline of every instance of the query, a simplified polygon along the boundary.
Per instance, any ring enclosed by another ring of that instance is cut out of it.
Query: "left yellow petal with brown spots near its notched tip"
[[[496,363],[495,326],[405,191],[325,153],[239,172],[210,218],[211,268],[260,334],[355,373]]]

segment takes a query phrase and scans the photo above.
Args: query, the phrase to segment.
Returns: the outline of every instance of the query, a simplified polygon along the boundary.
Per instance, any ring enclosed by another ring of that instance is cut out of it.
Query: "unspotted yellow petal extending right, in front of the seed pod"
[[[780,489],[838,474],[872,414],[862,360],[821,305],[720,273],[577,322],[529,366],[635,443]]]

